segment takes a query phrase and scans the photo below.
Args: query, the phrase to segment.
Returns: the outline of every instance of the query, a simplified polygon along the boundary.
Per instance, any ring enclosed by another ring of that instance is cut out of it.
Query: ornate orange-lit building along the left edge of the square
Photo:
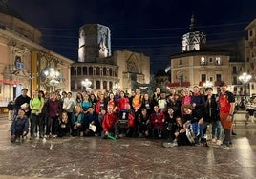
[[[40,46],[41,36],[39,30],[26,22],[0,12],[1,103],[13,100],[23,88],[29,89],[31,96],[34,89],[70,90],[73,61]],[[46,68],[55,70],[54,76],[46,75]],[[53,78],[58,80],[57,84],[50,83]]]

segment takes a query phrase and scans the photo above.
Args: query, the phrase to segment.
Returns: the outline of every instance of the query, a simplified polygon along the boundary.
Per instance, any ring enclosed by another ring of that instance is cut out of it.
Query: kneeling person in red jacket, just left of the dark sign
[[[112,137],[115,136],[115,138],[118,138],[118,128],[117,128],[117,113],[113,112],[113,106],[109,105],[107,113],[104,115],[103,122],[102,122],[102,138],[108,138],[109,135]]]

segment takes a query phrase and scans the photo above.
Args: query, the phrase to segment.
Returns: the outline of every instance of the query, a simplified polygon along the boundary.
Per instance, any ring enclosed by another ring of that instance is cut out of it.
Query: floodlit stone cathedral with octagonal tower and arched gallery
[[[111,31],[99,24],[79,29],[78,62],[71,67],[71,90],[131,90],[150,83],[150,58],[117,50],[112,54]],[[85,83],[90,82],[90,83]]]

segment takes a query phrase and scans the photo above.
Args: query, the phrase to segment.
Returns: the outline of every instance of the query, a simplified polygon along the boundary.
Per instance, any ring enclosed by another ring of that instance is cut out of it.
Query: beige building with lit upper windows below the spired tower
[[[178,89],[197,86],[217,87],[221,81],[231,84],[229,55],[224,52],[190,51],[171,57],[171,83]]]

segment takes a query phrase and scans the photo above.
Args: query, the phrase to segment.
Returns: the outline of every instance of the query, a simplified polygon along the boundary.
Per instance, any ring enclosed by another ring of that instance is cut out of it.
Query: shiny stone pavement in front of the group
[[[0,118],[0,179],[254,179],[256,125],[237,123],[234,149],[161,147],[161,140],[67,137],[11,144]]]

